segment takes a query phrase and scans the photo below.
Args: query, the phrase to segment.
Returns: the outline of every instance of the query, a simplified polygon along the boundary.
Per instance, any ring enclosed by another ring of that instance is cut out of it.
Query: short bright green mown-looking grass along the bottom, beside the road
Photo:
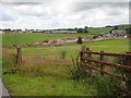
[[[93,96],[93,86],[86,90],[82,83],[68,78],[52,76],[27,76],[9,74],[3,77],[5,85],[13,96]]]

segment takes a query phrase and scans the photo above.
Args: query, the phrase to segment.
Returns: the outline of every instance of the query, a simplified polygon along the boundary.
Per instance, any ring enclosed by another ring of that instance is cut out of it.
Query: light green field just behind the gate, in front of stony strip
[[[84,42],[82,45],[67,45],[59,47],[37,47],[37,48],[23,48],[23,54],[26,53],[79,53],[81,46],[90,47],[93,51],[104,50],[106,52],[127,52],[129,51],[129,39],[114,39],[94,42]],[[10,52],[15,53],[14,48],[8,49]]]

